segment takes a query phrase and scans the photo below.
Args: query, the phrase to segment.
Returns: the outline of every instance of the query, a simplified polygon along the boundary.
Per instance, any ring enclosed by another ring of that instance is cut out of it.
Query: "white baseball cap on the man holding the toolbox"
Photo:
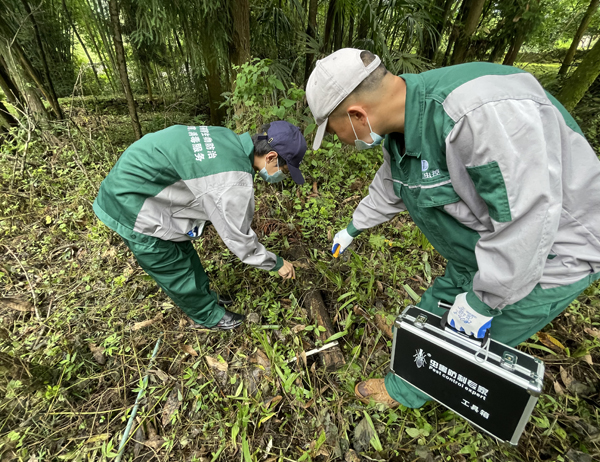
[[[329,115],[381,64],[375,55],[372,63],[365,66],[360,59],[364,50],[342,48],[317,61],[306,84],[308,106],[319,128],[313,149],[319,149]]]

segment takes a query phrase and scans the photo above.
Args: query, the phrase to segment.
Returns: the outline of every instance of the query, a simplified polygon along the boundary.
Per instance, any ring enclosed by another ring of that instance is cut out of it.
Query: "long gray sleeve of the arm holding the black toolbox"
[[[481,213],[485,204],[467,168],[497,162],[504,178],[510,221],[481,216],[491,227],[480,231],[475,248],[473,291],[491,308],[519,301],[540,281],[561,216],[561,151],[568,149],[568,128],[531,79],[482,77],[468,88],[478,101],[457,91],[444,103],[456,122],[446,152],[459,196]]]

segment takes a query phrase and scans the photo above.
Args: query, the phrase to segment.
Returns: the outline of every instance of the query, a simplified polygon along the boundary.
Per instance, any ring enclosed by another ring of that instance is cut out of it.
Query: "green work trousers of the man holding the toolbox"
[[[490,329],[491,337],[505,345],[517,346],[562,313],[599,277],[600,273],[590,274],[573,284],[552,289],[542,289],[537,285],[527,297],[506,306],[494,317]],[[452,263],[448,262],[444,276],[437,278],[427,289],[418,306],[441,316],[446,310],[437,306],[438,300],[452,302],[458,294],[467,292],[472,287],[472,277],[458,272]],[[406,407],[419,408],[431,400],[428,395],[392,372],[385,377],[385,388],[392,398]]]

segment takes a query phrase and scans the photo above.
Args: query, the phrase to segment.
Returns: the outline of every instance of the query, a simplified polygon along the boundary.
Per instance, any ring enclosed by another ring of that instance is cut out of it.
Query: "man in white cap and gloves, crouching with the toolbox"
[[[420,306],[457,330],[515,346],[600,277],[600,162],[575,120],[530,74],[469,63],[395,76],[345,48],[317,62],[306,89],[319,128],[383,165],[334,255],[408,210],[448,260]],[[384,138],[385,137],[385,138]],[[364,402],[430,398],[388,374],[356,385]]]

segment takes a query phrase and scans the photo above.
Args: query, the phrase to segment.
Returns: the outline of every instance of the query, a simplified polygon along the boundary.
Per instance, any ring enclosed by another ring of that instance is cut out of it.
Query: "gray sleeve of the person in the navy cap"
[[[238,181],[225,181],[226,187],[214,184],[202,196],[202,206],[209,212],[209,220],[217,230],[225,245],[243,263],[255,268],[271,270],[277,264],[277,256],[267,251],[258,242],[258,237],[250,227],[254,216],[254,186],[252,175],[244,172],[225,172],[213,177],[226,180],[226,176],[239,176]]]

